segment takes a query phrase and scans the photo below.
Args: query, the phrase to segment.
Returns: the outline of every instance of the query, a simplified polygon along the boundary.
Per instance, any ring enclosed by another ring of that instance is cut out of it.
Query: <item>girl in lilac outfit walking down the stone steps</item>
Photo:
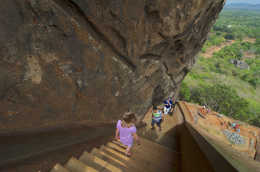
[[[133,111],[126,109],[123,113],[123,120],[118,120],[116,124],[115,139],[119,140],[120,138],[121,143],[127,146],[125,153],[127,157],[132,156],[132,152],[130,150],[133,146],[133,136],[138,142],[138,145],[140,145],[140,140],[136,134],[136,128],[133,122],[137,122],[137,118],[135,117]]]

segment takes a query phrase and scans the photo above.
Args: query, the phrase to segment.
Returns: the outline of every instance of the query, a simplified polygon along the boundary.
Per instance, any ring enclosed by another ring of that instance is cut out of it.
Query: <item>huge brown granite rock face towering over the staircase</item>
[[[225,0],[2,1],[1,128],[141,119],[172,96]]]

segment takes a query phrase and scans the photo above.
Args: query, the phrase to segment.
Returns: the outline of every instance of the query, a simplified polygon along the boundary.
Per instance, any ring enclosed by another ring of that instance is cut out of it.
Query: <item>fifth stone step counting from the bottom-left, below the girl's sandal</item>
[[[115,150],[111,149],[111,148],[108,148],[104,145],[102,145],[99,150],[101,150],[102,152],[105,152],[106,154],[114,157],[115,159],[127,164],[128,166],[131,166],[137,170],[140,170],[140,171],[149,171],[149,172],[155,172],[153,169],[147,167],[147,165],[145,165],[144,163],[141,163],[141,161],[135,161],[132,159],[132,156],[131,157],[126,157],[125,156],[125,152],[122,154],[122,153],[118,153],[116,152]]]

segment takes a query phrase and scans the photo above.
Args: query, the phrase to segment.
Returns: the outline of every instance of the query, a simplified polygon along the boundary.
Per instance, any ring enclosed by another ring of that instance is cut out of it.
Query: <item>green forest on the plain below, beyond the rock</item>
[[[243,38],[255,38],[255,43]],[[201,53],[226,39],[236,40],[212,58],[199,55],[182,82],[178,100],[205,105],[212,111],[260,127],[260,12],[222,10]],[[252,56],[244,58],[244,53]],[[250,70],[229,59],[244,60]]]

